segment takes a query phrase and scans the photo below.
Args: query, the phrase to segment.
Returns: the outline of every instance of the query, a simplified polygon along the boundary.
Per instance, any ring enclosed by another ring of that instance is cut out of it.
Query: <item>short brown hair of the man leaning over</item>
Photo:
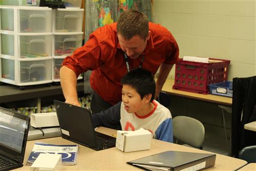
[[[148,35],[147,16],[137,10],[124,11],[117,21],[117,33],[125,40],[130,40],[133,36],[139,35],[145,41]]]

